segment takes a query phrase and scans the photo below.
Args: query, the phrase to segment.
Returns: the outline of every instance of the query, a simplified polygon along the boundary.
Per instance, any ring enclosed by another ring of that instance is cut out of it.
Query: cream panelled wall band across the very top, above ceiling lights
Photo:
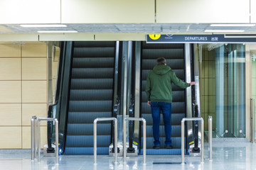
[[[1,0],[7,23],[256,23],[256,0]],[[250,16],[251,11],[251,16]]]

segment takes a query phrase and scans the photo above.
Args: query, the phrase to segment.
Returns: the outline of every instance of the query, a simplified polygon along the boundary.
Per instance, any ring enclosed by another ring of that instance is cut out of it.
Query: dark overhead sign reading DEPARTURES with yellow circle
[[[174,35],[151,34],[146,36],[147,43],[223,43],[255,42],[256,35]]]

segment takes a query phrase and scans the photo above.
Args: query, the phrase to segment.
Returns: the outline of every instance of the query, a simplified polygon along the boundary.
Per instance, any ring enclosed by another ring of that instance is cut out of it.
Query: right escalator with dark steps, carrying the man
[[[174,149],[164,149],[165,132],[162,114],[160,123],[160,149],[153,149],[153,121],[151,118],[151,108],[147,105],[145,86],[147,74],[156,65],[156,58],[158,57],[166,58],[166,64],[171,67],[179,79],[184,81],[186,74],[184,48],[183,44],[148,44],[142,42],[141,116],[146,119],[146,154],[181,154],[181,120],[186,117],[185,89],[181,89],[175,84],[172,85],[171,141]]]

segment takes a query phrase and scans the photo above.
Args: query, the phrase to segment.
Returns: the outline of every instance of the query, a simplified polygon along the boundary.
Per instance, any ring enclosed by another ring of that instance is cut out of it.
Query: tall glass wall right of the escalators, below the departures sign
[[[201,47],[200,47],[201,46]],[[201,116],[214,137],[245,137],[245,45],[198,45]]]

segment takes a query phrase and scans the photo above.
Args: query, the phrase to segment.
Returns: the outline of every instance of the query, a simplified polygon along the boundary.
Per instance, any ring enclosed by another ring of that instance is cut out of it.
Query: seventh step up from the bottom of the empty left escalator
[[[113,79],[71,79],[70,89],[113,89]]]

